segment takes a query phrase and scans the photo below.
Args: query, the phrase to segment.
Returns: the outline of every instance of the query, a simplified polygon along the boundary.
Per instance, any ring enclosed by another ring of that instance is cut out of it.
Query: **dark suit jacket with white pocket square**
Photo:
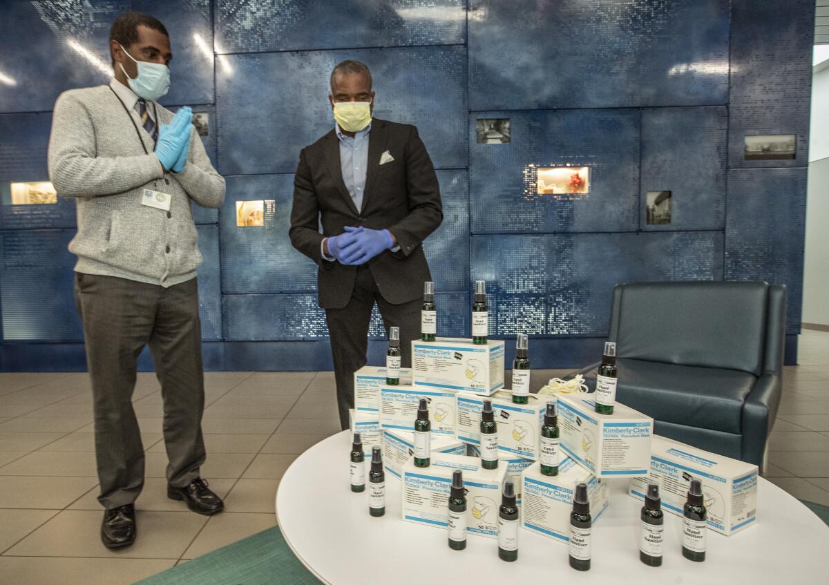
[[[386,151],[395,160],[381,165]],[[319,267],[320,307],[346,307],[357,269],[322,259],[323,238],[342,234],[346,225],[385,228],[395,234],[400,250],[385,250],[368,265],[383,298],[397,305],[422,297],[424,281],[432,279],[421,244],[443,218],[438,177],[414,126],[379,118],[371,122],[361,210],[342,181],[340,144],[334,130],[299,153],[290,236],[293,247]]]

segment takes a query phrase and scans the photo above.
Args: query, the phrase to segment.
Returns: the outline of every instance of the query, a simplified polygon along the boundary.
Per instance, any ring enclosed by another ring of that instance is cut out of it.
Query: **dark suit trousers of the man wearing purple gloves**
[[[354,292],[342,309],[326,309],[328,335],[334,356],[334,379],[337,381],[337,408],[340,425],[348,428],[348,409],[354,408],[354,372],[366,365],[368,327],[374,303],[380,308],[386,336],[389,327],[400,327],[400,365],[411,367],[411,342],[420,337],[420,309],[423,299],[392,305],[381,296],[367,264],[357,268]],[[383,362],[385,365],[385,361]]]

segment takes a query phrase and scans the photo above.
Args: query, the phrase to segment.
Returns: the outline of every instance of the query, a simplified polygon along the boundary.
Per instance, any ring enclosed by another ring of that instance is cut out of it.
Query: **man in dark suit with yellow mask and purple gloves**
[[[374,98],[366,65],[347,60],[334,68],[328,100],[336,125],[299,153],[293,189],[291,242],[319,267],[344,429],[375,302],[386,331],[400,327],[402,366],[410,366],[423,283],[432,279],[421,243],[444,217],[417,128],[372,119]]]

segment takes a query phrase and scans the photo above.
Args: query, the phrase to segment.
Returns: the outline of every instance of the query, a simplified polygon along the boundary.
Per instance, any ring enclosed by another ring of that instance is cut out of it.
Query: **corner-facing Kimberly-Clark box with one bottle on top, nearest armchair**
[[[599,477],[647,475],[653,419],[618,402],[599,414],[592,397],[559,396],[561,449]]]

